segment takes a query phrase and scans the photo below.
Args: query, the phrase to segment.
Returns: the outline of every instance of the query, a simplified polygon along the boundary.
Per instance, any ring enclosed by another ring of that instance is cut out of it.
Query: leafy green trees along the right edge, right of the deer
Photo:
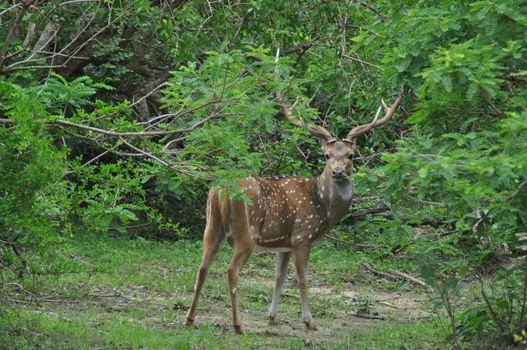
[[[493,327],[510,335],[519,327],[514,321],[519,307],[511,311],[505,294],[457,318],[456,304],[461,280],[470,270],[485,271],[500,247],[514,246],[527,220],[525,95],[510,78],[526,68],[520,3],[414,8],[404,15],[411,21],[394,28],[398,46],[386,56],[392,81],[414,88],[416,110],[407,119],[412,137],[399,141],[397,152],[385,154],[385,165],[376,171],[388,180],[375,183],[392,205],[411,215],[444,218],[453,230],[416,253],[423,277],[439,291],[438,305],[449,314],[455,341]],[[523,286],[512,283],[508,290],[521,295]],[[510,317],[503,317],[507,308]],[[508,321],[500,325],[502,318]]]

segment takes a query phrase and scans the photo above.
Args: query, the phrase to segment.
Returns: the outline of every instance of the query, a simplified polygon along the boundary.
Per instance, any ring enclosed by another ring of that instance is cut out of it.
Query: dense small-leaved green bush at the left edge
[[[0,260],[12,265],[24,263],[20,246],[47,253],[47,244],[69,231],[69,184],[66,152],[39,121],[46,115],[43,101],[5,80],[0,95],[0,109],[16,122],[0,128]]]

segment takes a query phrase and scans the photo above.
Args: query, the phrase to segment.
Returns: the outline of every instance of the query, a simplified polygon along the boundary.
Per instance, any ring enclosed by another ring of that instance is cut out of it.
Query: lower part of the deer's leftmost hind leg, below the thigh
[[[196,316],[196,308],[198,306],[199,297],[201,294],[201,288],[207,274],[209,272],[210,264],[214,259],[214,256],[218,252],[220,243],[225,238],[224,233],[221,229],[213,230],[211,226],[207,225],[205,228],[205,234],[203,235],[203,255],[201,257],[201,265],[199,266],[198,274],[196,276],[196,284],[194,286],[194,296],[192,298],[192,305],[187,312],[187,325],[192,325],[194,323],[194,317]],[[218,227],[218,226],[216,226]]]

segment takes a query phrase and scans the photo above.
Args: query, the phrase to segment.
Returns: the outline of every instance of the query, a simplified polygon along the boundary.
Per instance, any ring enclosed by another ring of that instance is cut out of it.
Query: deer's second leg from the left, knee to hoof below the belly
[[[229,294],[231,296],[231,308],[232,308],[232,324],[236,334],[243,334],[242,325],[240,322],[239,311],[238,311],[238,297],[236,288],[238,286],[238,276],[240,270],[247,262],[247,259],[251,255],[252,249],[250,245],[241,244],[242,242],[236,242],[234,244],[234,253],[232,255],[231,262],[227,268],[229,276]]]

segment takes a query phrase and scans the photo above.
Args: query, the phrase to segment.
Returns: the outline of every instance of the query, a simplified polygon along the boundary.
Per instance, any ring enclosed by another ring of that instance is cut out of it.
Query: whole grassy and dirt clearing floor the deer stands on
[[[269,325],[274,255],[253,254],[238,287],[246,331],[231,326],[220,250],[195,325],[184,325],[201,243],[83,238],[63,247],[55,271],[22,284],[3,275],[0,348],[439,349],[448,347],[428,295],[373,276],[360,253],[326,242],[311,255],[309,302],[317,331],[301,320],[290,263],[278,314]],[[357,316],[359,314],[359,316]],[[361,315],[367,315],[363,318]]]

